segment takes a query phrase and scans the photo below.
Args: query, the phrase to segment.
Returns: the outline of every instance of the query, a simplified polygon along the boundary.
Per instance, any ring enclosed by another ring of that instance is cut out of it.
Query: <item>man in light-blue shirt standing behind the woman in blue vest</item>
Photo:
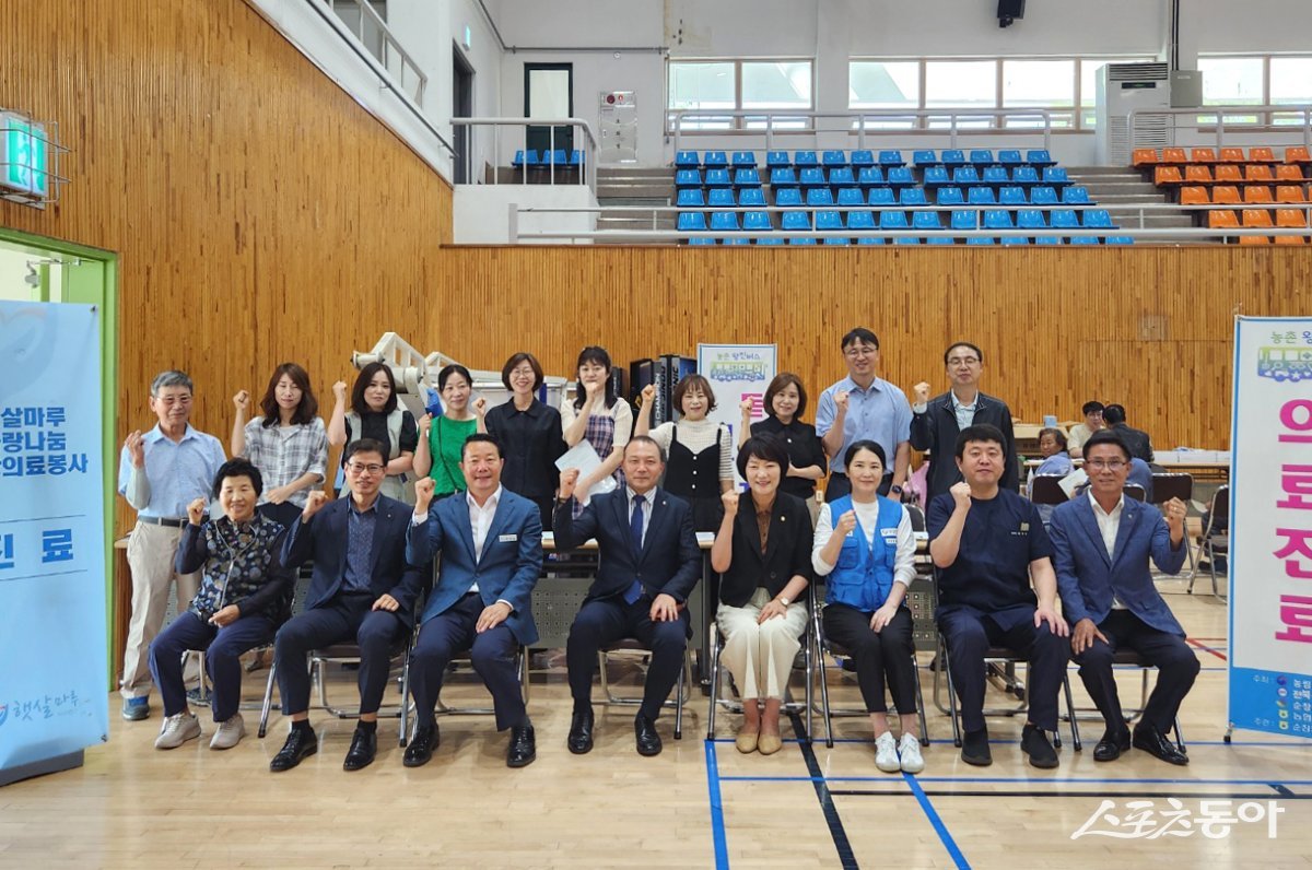
[[[816,434],[829,455],[829,483],[824,500],[851,492],[848,467],[842,462],[855,441],[876,441],[888,457],[879,495],[901,496],[911,465],[911,404],[899,387],[875,375],[879,365],[879,339],[874,332],[857,327],[842,337],[842,357],[848,377],[820,394],[816,409]]]

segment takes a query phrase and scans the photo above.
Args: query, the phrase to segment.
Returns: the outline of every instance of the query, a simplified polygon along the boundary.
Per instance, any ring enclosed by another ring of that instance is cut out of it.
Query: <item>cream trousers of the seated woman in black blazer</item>
[[[761,608],[769,602],[770,593],[757,588],[744,606],[722,604],[715,611],[715,625],[724,644],[720,663],[733,674],[743,698],[783,698],[792,660],[802,648],[807,605],[792,602],[782,617],[758,625]]]

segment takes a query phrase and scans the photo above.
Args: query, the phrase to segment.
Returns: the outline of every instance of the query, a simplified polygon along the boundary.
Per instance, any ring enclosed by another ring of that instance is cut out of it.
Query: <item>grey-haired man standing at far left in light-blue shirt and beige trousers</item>
[[[134,430],[123,441],[118,462],[118,493],[136,510],[127,538],[133,572],[133,615],[123,648],[123,718],[151,714],[151,671],[147,652],[164,625],[169,587],[177,580],[177,600],[190,601],[201,585],[199,572],[177,573],[173,556],[188,525],[186,505],[209,500],[210,484],[227,457],[211,434],[197,432],[192,417],[192,378],[185,371],[161,371],[151,382],[151,411],[157,424]]]

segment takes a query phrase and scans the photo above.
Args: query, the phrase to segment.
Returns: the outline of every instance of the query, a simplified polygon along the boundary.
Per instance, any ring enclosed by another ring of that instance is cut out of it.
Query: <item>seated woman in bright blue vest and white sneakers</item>
[[[907,588],[916,576],[916,535],[903,507],[878,493],[884,449],[857,441],[844,455],[851,493],[821,505],[811,566],[825,577],[824,634],[851,651],[875,728],[875,766],[920,773],[916,663]],[[897,709],[901,743],[888,731],[884,681]]]

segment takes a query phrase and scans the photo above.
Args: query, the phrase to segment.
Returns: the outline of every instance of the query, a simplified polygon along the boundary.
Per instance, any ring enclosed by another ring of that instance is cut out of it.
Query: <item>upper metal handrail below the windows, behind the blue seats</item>
[[[1078,108],[1073,108],[1072,112],[1078,112]],[[724,135],[761,135],[765,134],[765,148],[766,151],[774,150],[774,135],[775,135],[775,122],[790,123],[796,122],[799,118],[816,121],[824,118],[849,118],[855,121],[857,133],[857,147],[866,147],[866,134],[872,135],[897,135],[905,136],[907,130],[866,130],[866,122],[879,118],[895,118],[895,119],[914,119],[918,122],[929,118],[947,118],[950,122],[949,135],[950,147],[956,147],[956,138],[959,133],[958,121],[962,118],[1042,118],[1043,119],[1043,147],[1052,147],[1052,112],[1048,109],[971,109],[971,108],[943,108],[943,109],[861,109],[861,110],[848,110],[848,112],[789,112],[785,109],[779,110],[750,110],[750,109],[676,109],[666,113],[666,125],[673,125],[674,131],[674,151],[681,151],[681,140],[685,134],[687,135],[711,135],[711,136],[724,136]],[[723,118],[764,118],[765,129],[731,129],[731,130],[685,130],[685,119],[706,119],[706,121],[719,121]],[[921,130],[933,130],[932,127],[920,126]],[[1025,127],[989,127],[989,130],[1006,130],[1009,133],[1017,133],[1019,135],[1036,133],[1036,129]],[[848,125],[845,130],[817,130],[815,123],[811,125],[808,130],[783,130],[789,134],[803,133],[817,135],[820,133],[846,133],[849,136],[853,133],[853,126]]]

